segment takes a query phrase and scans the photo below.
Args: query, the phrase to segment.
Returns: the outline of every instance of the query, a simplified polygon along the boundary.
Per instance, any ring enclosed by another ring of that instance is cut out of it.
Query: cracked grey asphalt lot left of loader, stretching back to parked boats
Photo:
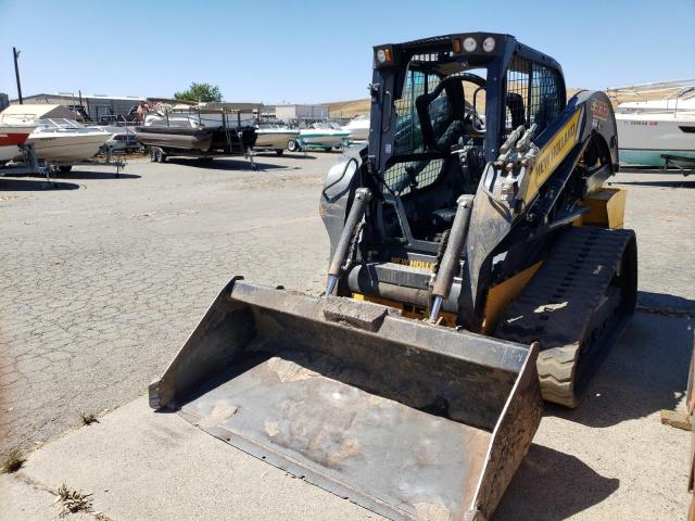
[[[232,275],[320,291],[318,192],[337,158],[131,161],[56,189],[0,178],[0,453],[142,394]]]

